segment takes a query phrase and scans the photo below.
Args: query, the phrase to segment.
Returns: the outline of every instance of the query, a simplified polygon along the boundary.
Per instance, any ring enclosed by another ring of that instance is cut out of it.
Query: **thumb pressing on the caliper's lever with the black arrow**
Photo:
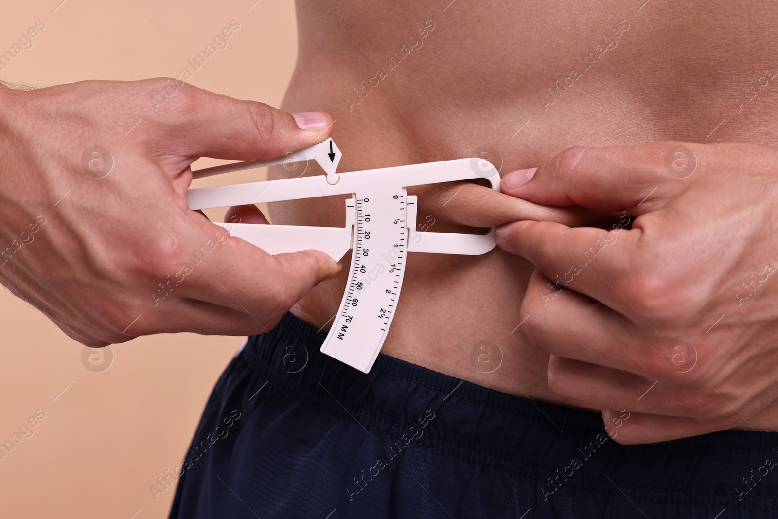
[[[189,85],[181,87],[179,93],[171,98],[177,103],[161,108],[172,112],[164,119],[166,139],[170,130],[182,137],[177,146],[180,158],[272,159],[292,149],[314,146],[332,133],[332,118],[324,112],[289,114],[265,103],[233,99]]]

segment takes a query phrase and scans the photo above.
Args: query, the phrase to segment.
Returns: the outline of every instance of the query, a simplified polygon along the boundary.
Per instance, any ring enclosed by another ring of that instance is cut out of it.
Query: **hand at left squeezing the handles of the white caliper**
[[[89,346],[268,331],[341,265],[230,238],[188,208],[190,165],[281,156],[331,123],[172,79],[0,86],[0,279]]]

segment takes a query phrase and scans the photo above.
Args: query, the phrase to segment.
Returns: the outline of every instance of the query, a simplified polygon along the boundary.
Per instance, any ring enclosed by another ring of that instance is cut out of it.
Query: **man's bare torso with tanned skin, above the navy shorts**
[[[283,108],[336,119],[341,171],[486,150],[506,174],[569,146],[657,140],[778,147],[778,8],[643,1],[298,0],[300,56]],[[342,206],[285,202],[271,217],[342,225]],[[434,207],[419,223],[451,228]],[[498,249],[411,254],[382,352],[561,403],[546,384],[548,356],[517,330],[532,270]],[[317,286],[293,313],[326,327],[345,279]],[[778,430],[778,413],[750,422]]]

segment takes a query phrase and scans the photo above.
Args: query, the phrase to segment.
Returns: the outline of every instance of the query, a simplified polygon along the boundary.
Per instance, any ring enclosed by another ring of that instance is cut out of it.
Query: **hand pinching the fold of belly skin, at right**
[[[624,212],[497,230],[538,267],[520,331],[550,353],[555,395],[603,409],[624,444],[755,429],[778,398],[776,191],[778,153],[734,143],[571,148],[506,175],[528,202]]]

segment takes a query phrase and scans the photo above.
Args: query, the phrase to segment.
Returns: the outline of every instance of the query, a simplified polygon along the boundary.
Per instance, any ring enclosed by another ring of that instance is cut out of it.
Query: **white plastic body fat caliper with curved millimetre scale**
[[[367,373],[373,366],[400,299],[408,252],[485,254],[495,246],[489,233],[418,232],[416,197],[405,188],[486,178],[499,191],[499,172],[478,158],[386,167],[336,174],[341,153],[331,139],[275,160],[252,160],[195,171],[195,178],[230,171],[316,160],[326,173],[312,177],[195,188],[190,209],[352,195],[345,202],[345,227],[220,223],[269,254],[317,249],[335,261],[353,249],[349,284],[321,351]]]

